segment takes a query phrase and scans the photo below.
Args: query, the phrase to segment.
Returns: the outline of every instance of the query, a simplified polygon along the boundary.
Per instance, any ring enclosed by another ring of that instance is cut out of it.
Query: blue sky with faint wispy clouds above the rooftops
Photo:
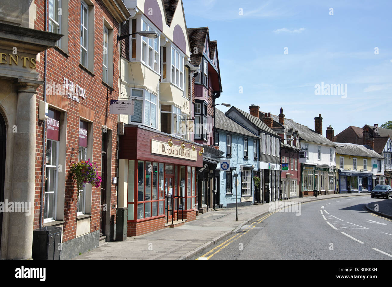
[[[276,115],[283,107],[285,117],[312,129],[321,113],[324,136],[328,125],[336,135],[350,125],[392,121],[392,1],[183,4],[187,27],[208,26],[218,41],[219,102]],[[316,95],[321,82],[347,85],[347,97]]]

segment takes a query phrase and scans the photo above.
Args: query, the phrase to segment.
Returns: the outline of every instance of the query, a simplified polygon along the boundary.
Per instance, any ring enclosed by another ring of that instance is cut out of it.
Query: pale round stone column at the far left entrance
[[[33,247],[35,148],[36,148],[36,88],[42,81],[18,79],[16,91],[16,130],[13,153],[12,189],[8,202],[27,202],[30,214],[8,214],[7,259],[31,259]],[[4,235],[5,235],[4,234]]]

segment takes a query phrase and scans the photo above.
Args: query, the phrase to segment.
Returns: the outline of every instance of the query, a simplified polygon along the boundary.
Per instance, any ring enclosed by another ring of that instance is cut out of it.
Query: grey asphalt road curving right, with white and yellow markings
[[[392,220],[365,209],[383,200],[392,199],[343,197],[283,208],[190,259],[392,260]]]

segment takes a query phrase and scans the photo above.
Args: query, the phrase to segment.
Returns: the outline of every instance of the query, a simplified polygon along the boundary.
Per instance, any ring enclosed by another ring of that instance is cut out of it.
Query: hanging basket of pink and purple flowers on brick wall
[[[102,177],[100,177],[98,171],[96,171],[95,162],[90,162],[90,159],[73,163],[69,172],[73,174],[73,179],[76,180],[78,199],[80,195],[79,190],[82,190],[86,183],[89,183],[96,188],[101,185]]]

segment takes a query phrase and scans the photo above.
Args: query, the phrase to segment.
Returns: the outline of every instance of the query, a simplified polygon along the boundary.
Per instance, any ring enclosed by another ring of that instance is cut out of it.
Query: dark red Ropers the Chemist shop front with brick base
[[[172,220],[196,219],[200,150],[198,144],[144,126],[124,127],[119,141],[118,207],[128,208],[127,236],[162,229]]]

